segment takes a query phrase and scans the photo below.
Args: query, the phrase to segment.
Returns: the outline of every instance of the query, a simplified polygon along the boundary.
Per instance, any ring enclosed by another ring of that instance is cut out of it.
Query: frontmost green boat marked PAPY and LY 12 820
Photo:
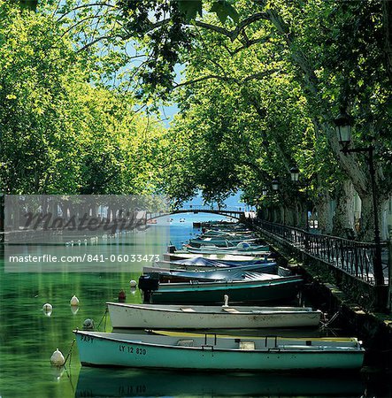
[[[147,335],[73,331],[82,365],[181,371],[359,369],[365,350],[355,338],[294,339]]]

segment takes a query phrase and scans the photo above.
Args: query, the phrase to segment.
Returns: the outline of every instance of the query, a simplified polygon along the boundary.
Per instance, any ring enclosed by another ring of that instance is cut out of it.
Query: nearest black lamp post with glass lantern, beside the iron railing
[[[372,199],[373,199],[373,215],[374,215],[375,252],[373,260],[373,271],[374,271],[374,279],[376,285],[384,285],[384,274],[382,272],[382,261],[381,261],[380,226],[379,226],[379,218],[377,215],[378,197],[377,197],[374,159],[373,159],[374,146],[369,145],[368,147],[350,149],[352,125],[353,125],[352,118],[350,117],[350,115],[347,114],[345,110],[341,110],[340,115],[336,119],[334,119],[336,134],[339,143],[342,145],[341,149],[342,153],[344,155],[348,155],[350,153],[365,153],[365,154],[367,153],[368,155],[367,161],[369,163],[369,172],[370,172],[370,180],[372,188]]]

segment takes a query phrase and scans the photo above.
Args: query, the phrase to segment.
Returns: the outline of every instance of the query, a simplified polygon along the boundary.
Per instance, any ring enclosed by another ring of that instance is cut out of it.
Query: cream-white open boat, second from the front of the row
[[[158,305],[106,302],[114,328],[257,329],[317,326],[320,310],[302,307]]]

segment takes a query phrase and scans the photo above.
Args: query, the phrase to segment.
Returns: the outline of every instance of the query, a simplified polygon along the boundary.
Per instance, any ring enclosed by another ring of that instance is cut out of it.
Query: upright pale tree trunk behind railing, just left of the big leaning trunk
[[[350,180],[342,182],[336,191],[336,209],[334,210],[333,234],[342,238],[353,239],[354,228],[354,187]]]

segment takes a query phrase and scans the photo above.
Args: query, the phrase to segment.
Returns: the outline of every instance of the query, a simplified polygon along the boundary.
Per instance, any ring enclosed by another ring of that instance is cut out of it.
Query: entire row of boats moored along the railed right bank
[[[143,303],[107,302],[113,332],[74,331],[81,364],[189,371],[359,369],[365,350],[356,338],[278,337],[268,329],[259,335],[263,328],[319,325],[320,310],[273,306],[296,297],[302,283],[244,226],[215,226],[144,267],[138,283]]]

